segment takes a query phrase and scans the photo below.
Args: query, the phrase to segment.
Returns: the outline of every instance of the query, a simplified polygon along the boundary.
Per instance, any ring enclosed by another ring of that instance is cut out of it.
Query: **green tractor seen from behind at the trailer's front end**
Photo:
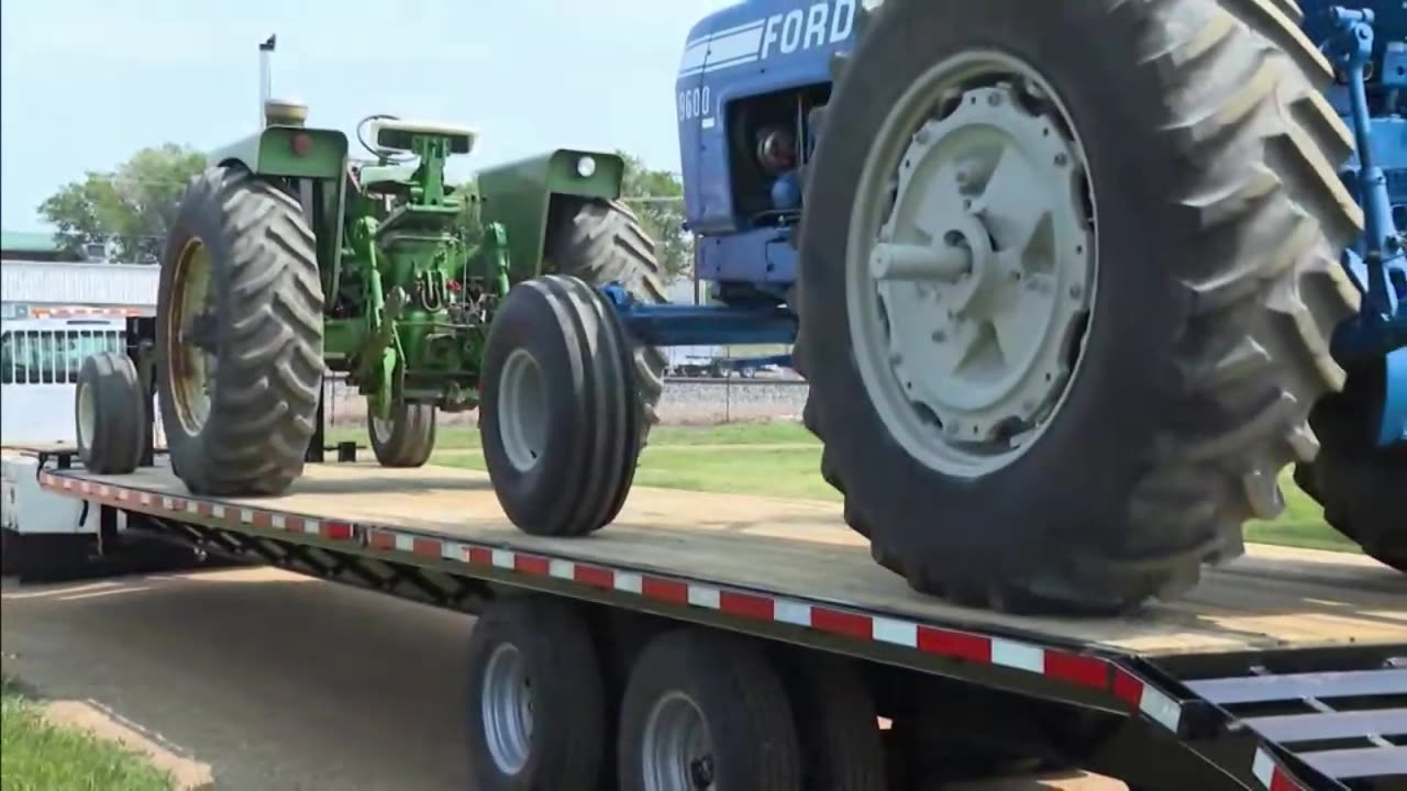
[[[303,106],[266,101],[265,115],[211,155],[162,259],[156,391],[193,493],[288,488],[328,372],[364,396],[383,466],[424,464],[436,414],[478,405],[490,322],[514,283],[561,273],[666,301],[653,242],[619,200],[619,156],[557,149],[480,172],[471,194],[445,177],[471,129],[373,115],[356,137],[374,159],[352,160],[348,137],[307,127]],[[664,356],[630,353],[653,412]]]

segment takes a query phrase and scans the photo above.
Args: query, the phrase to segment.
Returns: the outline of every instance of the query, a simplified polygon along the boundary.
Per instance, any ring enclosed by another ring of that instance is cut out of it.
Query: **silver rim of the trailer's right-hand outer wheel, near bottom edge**
[[[647,791],[715,788],[713,742],[692,698],[680,691],[663,695],[650,709],[642,739]]]

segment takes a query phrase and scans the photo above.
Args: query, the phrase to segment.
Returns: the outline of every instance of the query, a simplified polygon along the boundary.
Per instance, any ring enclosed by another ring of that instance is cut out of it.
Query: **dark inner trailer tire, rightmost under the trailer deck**
[[[874,695],[851,663],[796,654],[784,671],[806,791],[888,791]]]

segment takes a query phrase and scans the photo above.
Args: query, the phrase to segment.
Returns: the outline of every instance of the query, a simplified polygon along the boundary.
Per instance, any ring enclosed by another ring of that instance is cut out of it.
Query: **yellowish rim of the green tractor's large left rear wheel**
[[[215,355],[191,341],[196,321],[212,308],[210,252],[191,239],[176,258],[166,359],[170,365],[176,417],[186,434],[197,435],[210,419],[215,386]]]

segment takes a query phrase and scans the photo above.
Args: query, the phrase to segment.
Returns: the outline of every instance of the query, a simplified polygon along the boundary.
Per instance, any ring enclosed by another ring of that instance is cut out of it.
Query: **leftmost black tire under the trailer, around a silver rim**
[[[483,716],[488,662],[518,649],[532,687],[528,760],[516,774],[494,761]],[[601,662],[581,614],[567,601],[505,598],[491,604],[469,639],[469,761],[483,791],[595,791],[609,768]]]

